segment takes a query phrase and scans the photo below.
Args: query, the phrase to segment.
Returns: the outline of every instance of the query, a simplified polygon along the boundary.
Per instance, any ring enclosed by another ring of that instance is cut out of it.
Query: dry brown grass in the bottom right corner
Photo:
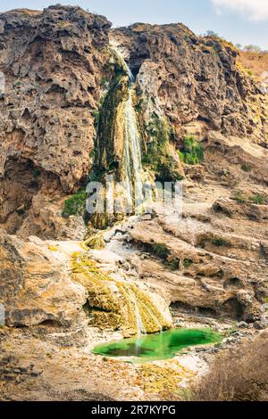
[[[191,391],[193,401],[267,401],[268,333],[216,357]]]

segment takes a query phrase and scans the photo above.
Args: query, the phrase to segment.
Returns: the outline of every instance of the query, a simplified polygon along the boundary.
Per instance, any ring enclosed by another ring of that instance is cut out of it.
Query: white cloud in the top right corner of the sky
[[[212,2],[218,13],[229,10],[242,13],[251,21],[268,19],[268,0],[212,0]]]

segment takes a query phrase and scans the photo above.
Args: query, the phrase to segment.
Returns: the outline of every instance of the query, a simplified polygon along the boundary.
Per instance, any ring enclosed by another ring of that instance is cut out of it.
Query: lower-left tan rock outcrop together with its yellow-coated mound
[[[119,275],[121,258],[113,253],[113,264],[104,254],[102,267],[79,242],[22,242],[0,230],[0,256],[0,302],[10,327],[89,325],[132,335],[172,325],[165,300]]]

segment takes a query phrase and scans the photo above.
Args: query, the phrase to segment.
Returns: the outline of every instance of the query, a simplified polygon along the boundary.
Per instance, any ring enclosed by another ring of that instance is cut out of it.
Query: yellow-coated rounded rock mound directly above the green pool
[[[88,292],[86,309],[94,325],[121,329],[127,336],[157,333],[171,327],[149,294],[135,283],[123,282],[104,274],[96,262],[83,252],[71,259],[72,279]]]

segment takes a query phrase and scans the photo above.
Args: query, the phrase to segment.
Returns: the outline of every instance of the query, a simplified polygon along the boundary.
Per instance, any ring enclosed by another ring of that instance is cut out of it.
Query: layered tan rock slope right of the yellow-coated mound
[[[129,240],[146,254],[130,258],[138,275],[179,311],[255,322],[267,295],[265,234],[253,238],[248,218],[243,233],[224,228],[238,223],[235,214],[229,220],[209,204],[197,215],[185,207],[181,220],[167,212],[132,228]]]

